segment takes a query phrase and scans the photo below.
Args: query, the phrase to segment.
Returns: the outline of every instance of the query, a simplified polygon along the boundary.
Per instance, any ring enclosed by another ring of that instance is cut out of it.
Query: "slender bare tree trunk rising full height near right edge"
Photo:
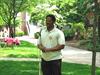
[[[95,12],[94,12],[94,24],[93,24],[93,51],[92,51],[92,68],[91,75],[96,75],[96,26],[97,26],[97,0],[94,0]]]

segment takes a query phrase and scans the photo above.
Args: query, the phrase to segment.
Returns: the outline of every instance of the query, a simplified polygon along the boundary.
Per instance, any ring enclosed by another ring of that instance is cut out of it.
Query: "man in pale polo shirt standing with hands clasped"
[[[42,51],[41,70],[43,75],[61,75],[61,50],[65,46],[64,34],[54,25],[56,18],[46,16],[46,27],[41,30],[38,48]]]

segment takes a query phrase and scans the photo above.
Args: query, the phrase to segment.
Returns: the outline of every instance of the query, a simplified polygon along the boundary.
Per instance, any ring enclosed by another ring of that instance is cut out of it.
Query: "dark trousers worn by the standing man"
[[[61,75],[61,59],[45,61],[42,59],[41,61],[41,69],[43,75]]]

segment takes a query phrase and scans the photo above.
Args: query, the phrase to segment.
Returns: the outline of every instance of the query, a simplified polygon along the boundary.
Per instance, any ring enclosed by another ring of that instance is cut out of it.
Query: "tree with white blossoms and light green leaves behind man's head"
[[[68,22],[69,18],[67,17],[70,17],[69,14],[75,11],[73,10],[74,3],[75,3],[75,0],[53,0],[53,1],[42,0],[34,8],[31,15],[31,21],[35,21],[35,22],[39,20],[43,21],[44,17],[48,13],[53,13],[57,17],[56,24],[62,27],[63,25],[66,25],[66,23]],[[73,13],[73,14],[76,14],[76,13]],[[77,19],[75,18],[73,19],[73,21]]]

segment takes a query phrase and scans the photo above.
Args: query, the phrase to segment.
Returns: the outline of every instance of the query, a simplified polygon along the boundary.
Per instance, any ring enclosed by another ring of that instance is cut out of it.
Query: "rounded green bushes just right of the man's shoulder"
[[[84,28],[84,24],[83,23],[69,23],[67,25],[65,25],[63,27],[63,32],[65,34],[65,37],[68,37],[68,38],[73,38],[75,36],[75,33],[79,32],[82,37],[84,37],[84,31],[85,31],[85,28]]]

